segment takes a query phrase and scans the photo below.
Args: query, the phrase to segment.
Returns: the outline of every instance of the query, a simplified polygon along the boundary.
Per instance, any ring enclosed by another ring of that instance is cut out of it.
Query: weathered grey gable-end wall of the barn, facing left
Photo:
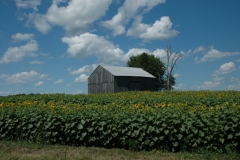
[[[88,93],[114,92],[114,77],[102,66],[98,66],[88,78]]]

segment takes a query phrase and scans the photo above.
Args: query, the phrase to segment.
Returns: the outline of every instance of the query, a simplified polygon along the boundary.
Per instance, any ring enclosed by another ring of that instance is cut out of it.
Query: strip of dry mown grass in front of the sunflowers
[[[42,145],[28,142],[0,141],[1,160],[238,160],[239,153],[172,153],[160,150],[134,152],[124,149]]]

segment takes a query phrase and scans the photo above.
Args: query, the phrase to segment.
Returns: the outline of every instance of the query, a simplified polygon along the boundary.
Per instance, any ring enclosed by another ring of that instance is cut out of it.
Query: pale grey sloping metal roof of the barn
[[[102,66],[102,65],[101,65]],[[132,76],[132,77],[148,77],[155,78],[150,73],[144,71],[142,68],[134,67],[119,67],[119,66],[102,66],[114,76]]]

